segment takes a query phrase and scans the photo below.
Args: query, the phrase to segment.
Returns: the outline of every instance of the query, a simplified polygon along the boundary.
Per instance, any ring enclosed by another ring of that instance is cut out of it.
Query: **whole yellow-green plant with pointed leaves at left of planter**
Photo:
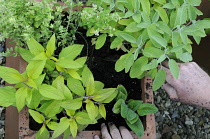
[[[97,119],[106,118],[105,104],[116,96],[116,88],[104,88],[95,81],[85,65],[86,57],[78,57],[83,45],[74,44],[64,48],[58,56],[55,35],[46,47],[35,39],[27,41],[29,50],[17,47],[28,62],[25,72],[19,73],[9,67],[0,67],[0,77],[14,87],[0,88],[0,105],[15,106],[20,111],[29,108],[33,119],[42,124],[36,138],[49,138],[48,128],[54,130],[52,138],[64,133],[76,137],[77,132]],[[51,82],[45,83],[47,72],[56,72]],[[63,113],[58,119],[57,114]]]

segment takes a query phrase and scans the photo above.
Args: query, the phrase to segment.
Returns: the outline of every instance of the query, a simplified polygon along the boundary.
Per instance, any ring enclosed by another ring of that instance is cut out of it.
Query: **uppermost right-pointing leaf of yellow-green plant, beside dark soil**
[[[84,45],[74,44],[62,49],[62,51],[59,54],[59,59],[62,57],[71,60],[75,59],[81,53],[83,46]]]

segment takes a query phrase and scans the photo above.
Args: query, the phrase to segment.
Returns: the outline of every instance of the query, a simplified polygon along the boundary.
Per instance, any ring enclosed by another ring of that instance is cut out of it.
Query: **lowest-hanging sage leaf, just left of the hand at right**
[[[153,91],[158,90],[165,82],[165,79],[166,79],[166,72],[163,69],[160,69],[158,73],[156,74],[153,85],[152,85]]]

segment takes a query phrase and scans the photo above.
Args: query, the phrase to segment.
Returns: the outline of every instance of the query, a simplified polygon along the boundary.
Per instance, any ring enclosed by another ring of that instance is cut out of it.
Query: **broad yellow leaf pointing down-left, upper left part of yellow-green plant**
[[[26,67],[26,72],[29,78],[36,79],[38,78],[45,66],[45,60],[32,60]]]

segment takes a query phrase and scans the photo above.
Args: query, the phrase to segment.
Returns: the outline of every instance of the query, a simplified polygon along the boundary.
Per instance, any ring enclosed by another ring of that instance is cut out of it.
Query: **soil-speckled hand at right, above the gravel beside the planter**
[[[176,80],[163,63],[166,83],[163,88],[172,100],[210,108],[210,77],[195,62],[179,63],[180,75]]]

